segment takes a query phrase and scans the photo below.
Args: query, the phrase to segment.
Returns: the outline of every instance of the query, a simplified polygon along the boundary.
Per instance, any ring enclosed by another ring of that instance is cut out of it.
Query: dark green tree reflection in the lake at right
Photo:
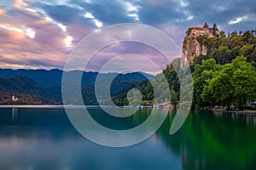
[[[183,169],[253,169],[256,167],[256,115],[194,111],[169,135],[174,113],[157,135],[183,161]]]

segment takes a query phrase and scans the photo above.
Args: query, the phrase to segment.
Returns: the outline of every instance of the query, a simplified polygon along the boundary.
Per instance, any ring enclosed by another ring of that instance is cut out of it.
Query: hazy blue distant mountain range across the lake
[[[80,71],[68,71],[67,74],[76,75]],[[117,96],[125,88],[143,82],[153,76],[133,72],[126,74],[97,72],[82,72],[82,95],[85,105],[97,105],[94,85],[96,77],[101,76],[100,87],[104,87],[110,77],[115,77],[110,87],[112,97]],[[146,75],[143,76],[143,75]],[[0,104],[62,104],[61,101],[61,70],[11,70],[0,69]],[[13,102],[15,95],[19,101]]]

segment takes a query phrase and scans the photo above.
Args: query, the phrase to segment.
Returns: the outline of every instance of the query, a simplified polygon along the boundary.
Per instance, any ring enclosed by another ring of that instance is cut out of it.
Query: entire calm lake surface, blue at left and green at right
[[[137,126],[149,109],[125,120],[90,114],[104,126]],[[94,144],[61,108],[0,108],[0,169],[255,169],[256,114],[193,111],[170,135],[175,111],[149,139],[125,148]],[[122,118],[124,119],[124,118]]]

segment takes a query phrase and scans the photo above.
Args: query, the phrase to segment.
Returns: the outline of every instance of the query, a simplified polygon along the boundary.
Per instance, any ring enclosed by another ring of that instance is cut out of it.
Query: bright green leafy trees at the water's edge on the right
[[[212,67],[210,66],[212,64]],[[217,65],[214,59],[195,65],[195,105],[235,105],[243,109],[247,100],[256,100],[256,71],[243,56],[232,63]]]

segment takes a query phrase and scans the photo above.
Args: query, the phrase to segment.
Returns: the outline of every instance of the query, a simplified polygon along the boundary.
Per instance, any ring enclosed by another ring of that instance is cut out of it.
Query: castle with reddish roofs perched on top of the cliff
[[[206,37],[216,37],[219,34],[218,28],[216,24],[213,24],[212,28],[209,28],[207,23],[204,26],[195,26],[192,27],[190,32],[190,37],[199,37],[199,36],[206,36]]]

